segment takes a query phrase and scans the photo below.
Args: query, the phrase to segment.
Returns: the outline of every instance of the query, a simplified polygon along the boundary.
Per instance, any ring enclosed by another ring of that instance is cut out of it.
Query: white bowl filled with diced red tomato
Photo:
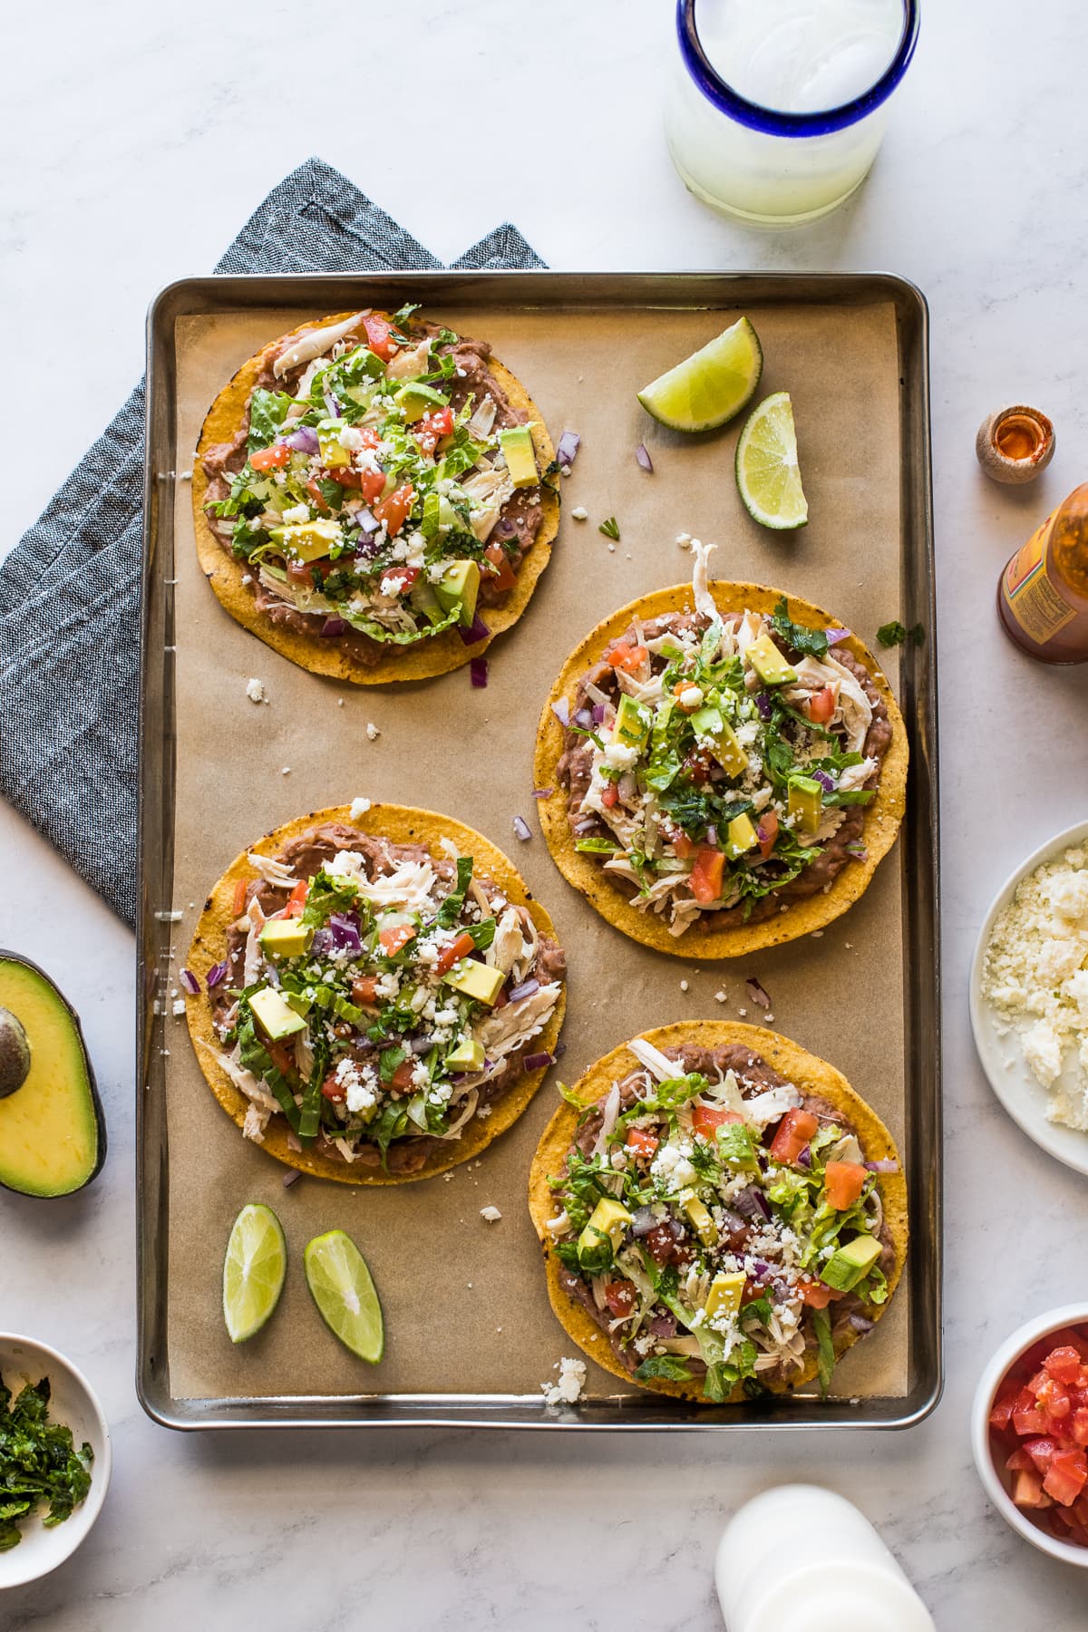
[[[971,1439],[1002,1518],[1088,1568],[1088,1304],[1015,1332],[979,1379]]]

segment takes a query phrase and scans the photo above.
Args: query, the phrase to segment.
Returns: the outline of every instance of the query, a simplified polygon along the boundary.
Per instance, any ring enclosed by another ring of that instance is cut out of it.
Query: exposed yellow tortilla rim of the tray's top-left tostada
[[[375,312],[375,315],[391,320],[388,312]],[[290,336],[299,336],[313,328],[328,328],[347,317],[351,317],[351,312],[336,312],[331,317],[320,318],[316,323],[300,323],[299,328],[290,330]],[[517,623],[529,605],[529,597],[537,586],[537,579],[551,557],[551,540],[559,529],[558,493],[546,483],[542,483],[540,503],[543,514],[540,529],[517,568],[517,581],[504,604],[486,609],[486,622],[491,630],[486,641],[481,640],[468,648],[457,630],[449,628],[442,635],[421,640],[416,646],[390,645],[388,653],[378,663],[364,664],[352,653],[344,651],[336,640],[325,640],[321,635],[303,635],[299,630],[272,623],[263,612],[258,612],[250,588],[241,581],[248,571],[246,563],[237,560],[219,542],[204,514],[209,480],[204,472],[202,455],[217,442],[230,441],[240,429],[250,393],[264,366],[264,357],[271,349],[279,349],[282,341],[290,336],[277,335],[256,357],[243,362],[209,408],[201,428],[201,439],[192,462],[192,524],[196,527],[196,553],[204,576],[215,591],[220,605],[230,612],[237,623],[248,628],[250,633],[263,640],[272,651],[279,651],[302,669],[310,669],[312,674],[325,674],[334,681],[351,681],[354,685],[388,685],[390,681],[426,681],[436,674],[460,669],[471,656],[484,653],[496,635],[502,635],[504,630]],[[511,406],[522,410],[532,419],[537,463],[540,470],[546,472],[555,460],[555,449],[540,410],[520,380],[496,357],[489,359],[488,367],[506,392]]]

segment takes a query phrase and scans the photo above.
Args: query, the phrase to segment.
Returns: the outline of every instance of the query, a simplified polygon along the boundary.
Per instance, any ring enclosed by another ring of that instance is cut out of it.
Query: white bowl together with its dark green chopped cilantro
[[[64,1563],[109,1485],[109,1428],[55,1348],[0,1332],[0,1590]]]

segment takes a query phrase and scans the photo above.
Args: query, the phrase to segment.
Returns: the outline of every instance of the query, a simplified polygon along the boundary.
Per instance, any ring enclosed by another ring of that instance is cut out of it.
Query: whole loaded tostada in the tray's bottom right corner
[[[529,1204],[569,1337],[625,1382],[700,1402],[827,1392],[907,1253],[876,1113],[796,1043],[708,1020],[648,1031],[561,1092]]]

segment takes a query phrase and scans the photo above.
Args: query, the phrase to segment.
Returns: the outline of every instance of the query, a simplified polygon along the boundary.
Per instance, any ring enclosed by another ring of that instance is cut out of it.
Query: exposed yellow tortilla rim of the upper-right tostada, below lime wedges
[[[710,584],[710,592],[721,612],[765,612],[775,610],[781,601],[783,589],[770,589],[765,584],[731,583],[716,579]],[[812,628],[825,628],[837,623],[829,612],[804,601],[801,596],[788,596],[789,615],[798,623]],[[865,806],[863,842],[866,860],[851,860],[834,878],[830,889],[819,891],[801,901],[791,901],[783,912],[776,912],[760,924],[736,924],[726,929],[700,927],[697,919],[683,935],[669,934],[667,920],[652,911],[639,912],[618,885],[608,880],[600,863],[587,854],[574,849],[574,834],[568,821],[566,788],[559,783],[558,765],[563,754],[563,726],[555,707],[564,698],[568,703],[574,697],[577,681],[600,658],[605,646],[617,640],[630,627],[631,619],[643,622],[661,617],[666,612],[687,612],[692,607],[692,586],[674,584],[670,589],[657,589],[620,607],[607,617],[574,648],[563,664],[559,677],[551,687],[551,695],[540,715],[537,728],[537,754],[533,762],[533,778],[538,788],[551,788],[546,798],[538,801],[540,827],[551,850],[551,858],[569,885],[581,891],[589,904],[608,919],[617,929],[630,935],[631,940],[657,951],[669,951],[677,958],[744,958],[763,947],[780,947],[783,942],[796,940],[799,935],[811,935],[816,929],[824,929],[840,917],[858,901],[869,886],[878,863],[891,850],[899,834],[907,796],[907,728],[899,705],[892,697],[891,685],[879,671],[873,653],[856,638],[840,641],[869,671],[873,684],[887,707],[887,718],[892,726],[892,741],[881,765],[881,780],[876,795]]]

